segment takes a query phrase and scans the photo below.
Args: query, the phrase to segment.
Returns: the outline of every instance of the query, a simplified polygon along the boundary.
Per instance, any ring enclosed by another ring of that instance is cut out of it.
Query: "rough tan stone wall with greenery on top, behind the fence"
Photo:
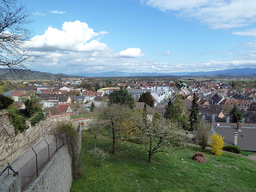
[[[70,121],[69,114],[48,116],[36,126],[22,133],[15,134],[8,112],[0,112],[0,171],[7,166],[7,162],[13,162],[24,151],[49,135],[61,122]]]

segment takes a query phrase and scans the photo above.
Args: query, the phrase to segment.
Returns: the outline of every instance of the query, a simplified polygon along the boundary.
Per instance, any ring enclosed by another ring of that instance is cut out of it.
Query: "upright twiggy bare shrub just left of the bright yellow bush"
[[[194,133],[196,142],[200,145],[202,150],[205,150],[208,140],[210,138],[211,126],[206,121],[200,121],[194,124]]]

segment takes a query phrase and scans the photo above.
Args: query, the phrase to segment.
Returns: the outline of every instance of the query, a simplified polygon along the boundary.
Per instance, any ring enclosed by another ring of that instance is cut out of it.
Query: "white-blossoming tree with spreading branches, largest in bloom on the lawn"
[[[148,162],[158,152],[172,153],[183,149],[181,127],[177,122],[162,118],[159,114],[148,114],[144,108],[141,118],[136,121],[140,134],[135,139],[148,150]]]

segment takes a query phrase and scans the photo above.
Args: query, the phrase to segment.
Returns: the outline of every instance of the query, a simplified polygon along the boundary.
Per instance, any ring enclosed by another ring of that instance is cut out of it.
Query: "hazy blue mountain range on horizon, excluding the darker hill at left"
[[[120,71],[109,71],[101,73],[80,73],[80,76],[86,77],[119,77],[119,76],[210,76],[210,75],[254,75],[256,68],[227,69],[208,72],[178,72],[178,73],[126,73]]]

